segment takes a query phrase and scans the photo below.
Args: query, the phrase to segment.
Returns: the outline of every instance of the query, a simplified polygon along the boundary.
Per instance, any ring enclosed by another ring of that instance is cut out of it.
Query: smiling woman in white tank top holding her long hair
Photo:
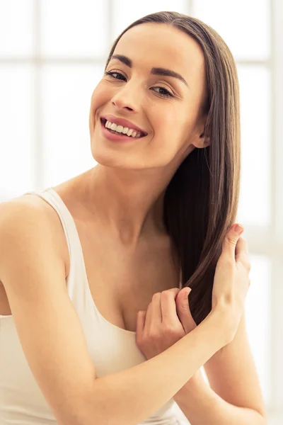
[[[1,205],[1,424],[171,425],[175,402],[191,424],[266,424],[228,47],[180,13],[132,23],[89,129],[97,166]]]

